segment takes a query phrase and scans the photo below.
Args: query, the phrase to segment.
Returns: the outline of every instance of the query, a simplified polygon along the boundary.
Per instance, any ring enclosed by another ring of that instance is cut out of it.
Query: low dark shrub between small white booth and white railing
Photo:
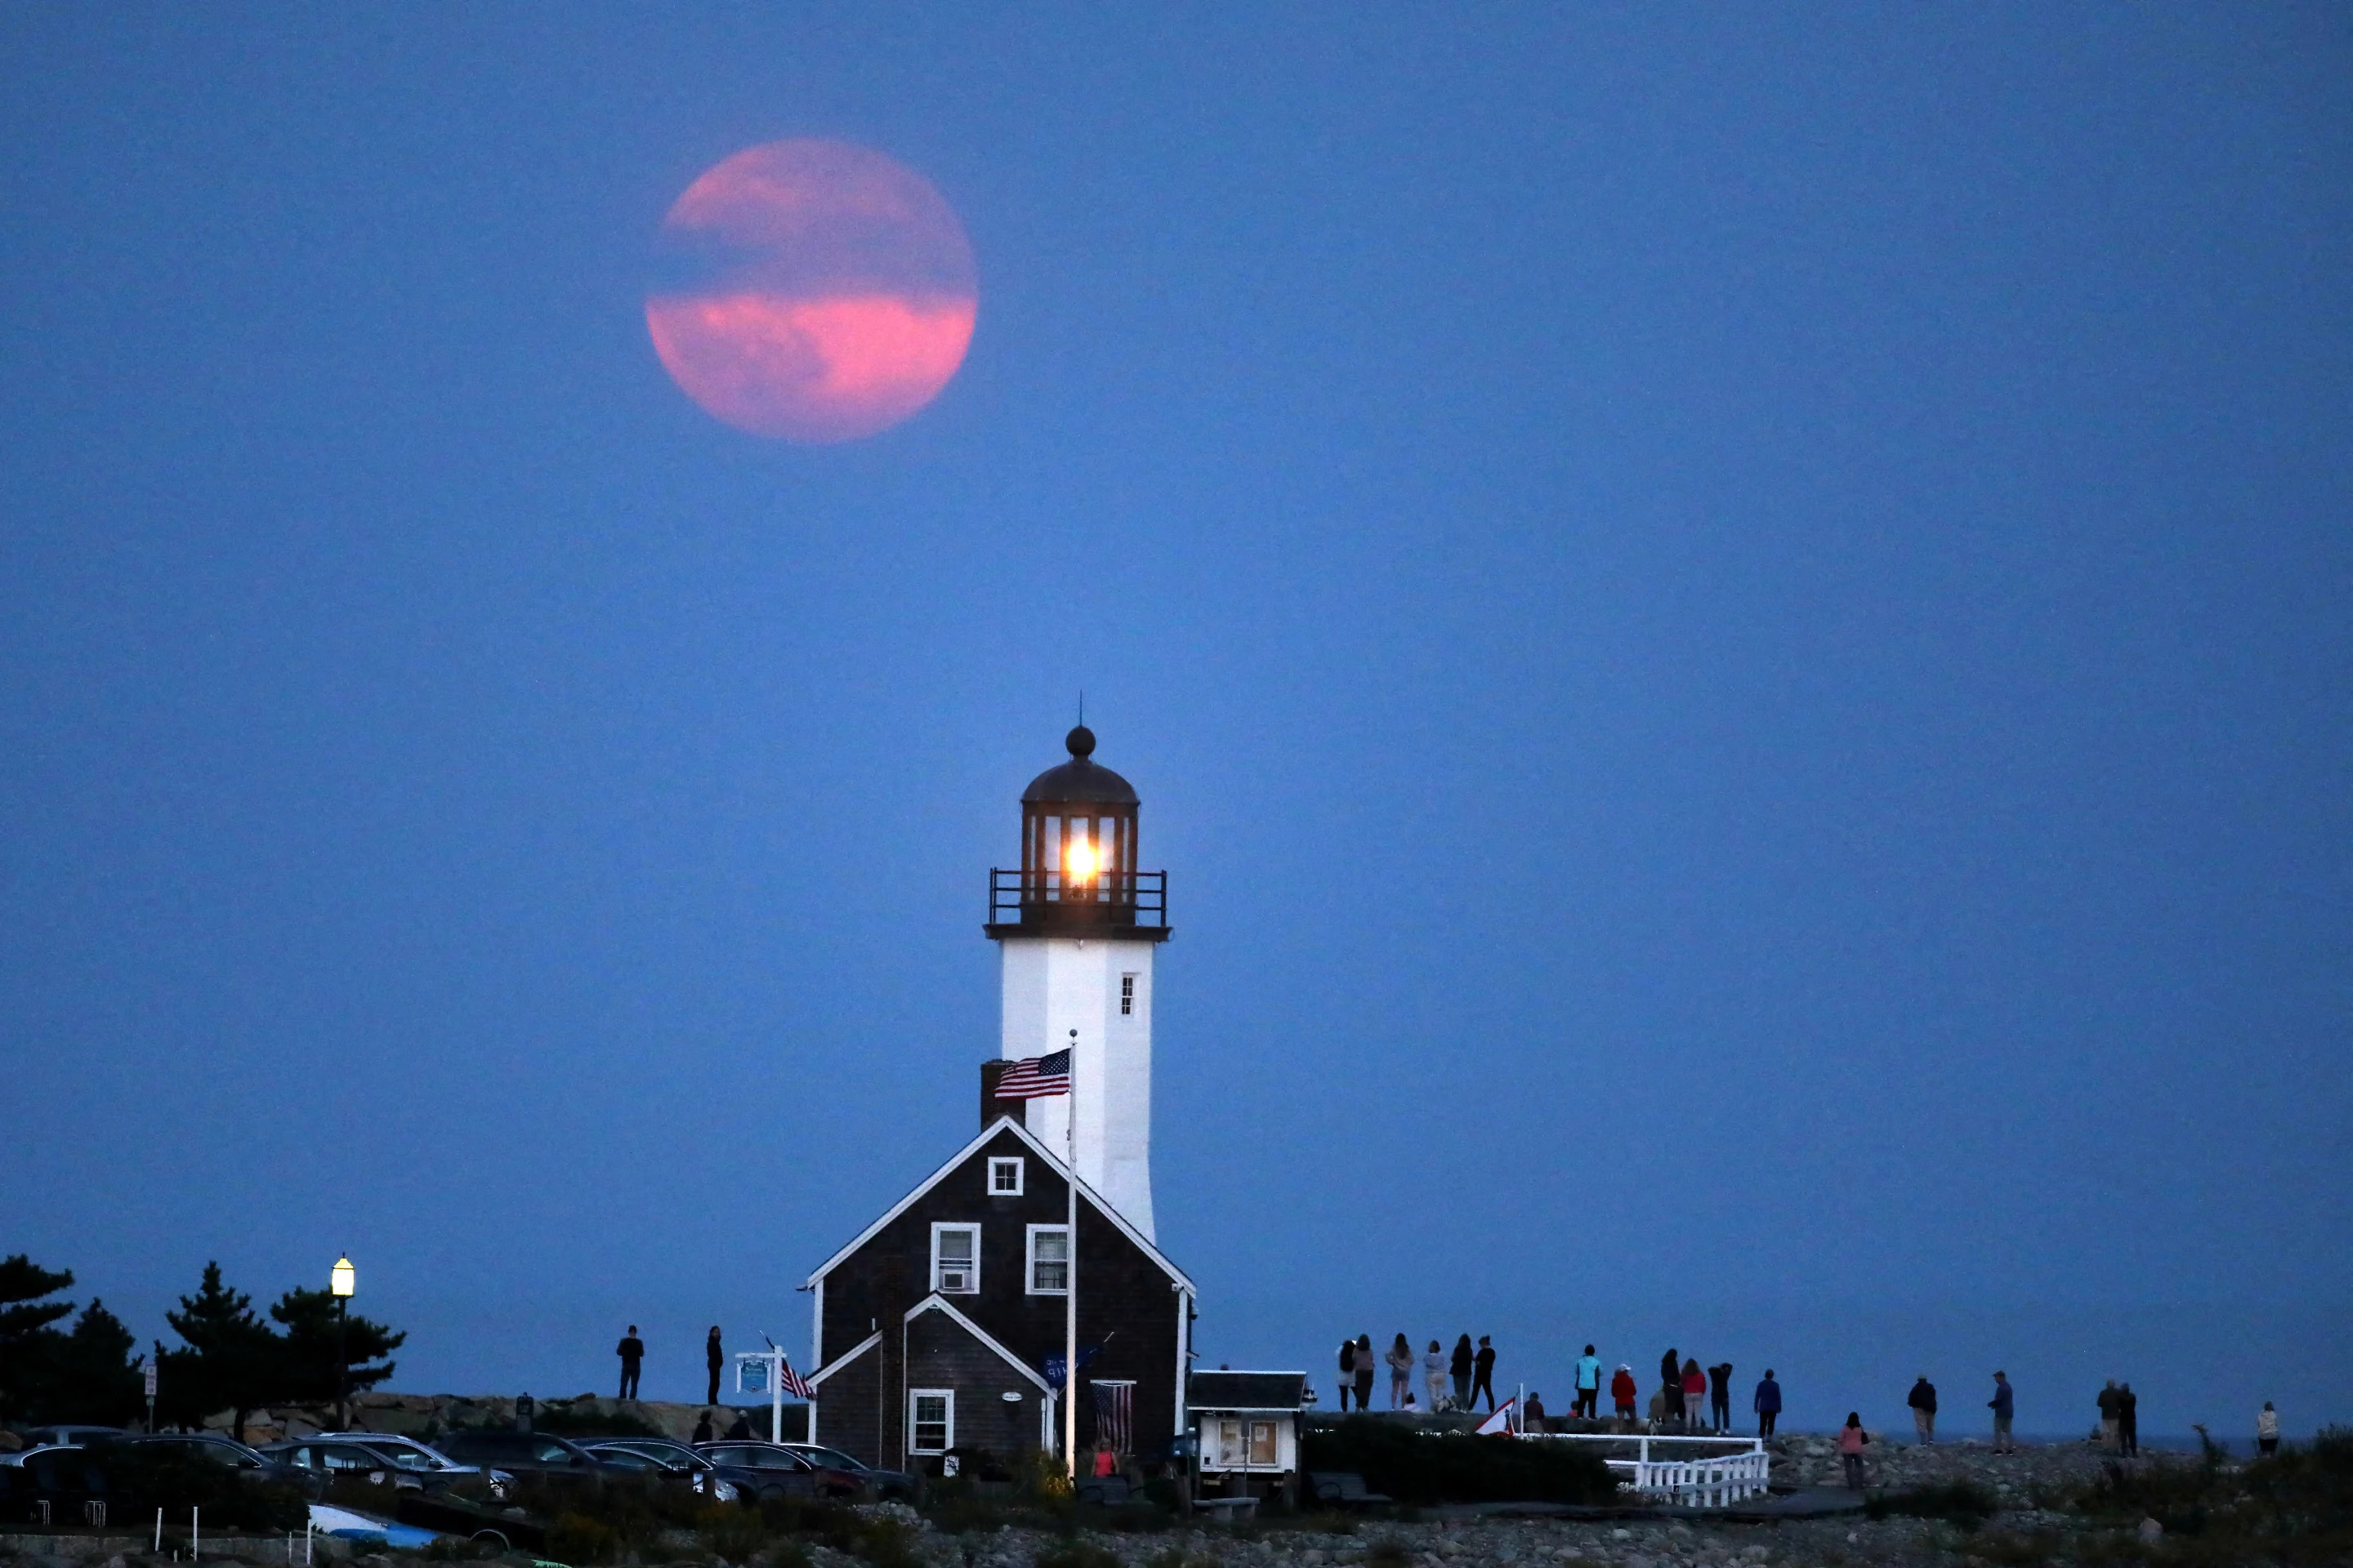
[[[1424,1434],[1351,1415],[1299,1439],[1299,1467],[1355,1472],[1398,1502],[1612,1502],[1617,1476],[1572,1443]]]

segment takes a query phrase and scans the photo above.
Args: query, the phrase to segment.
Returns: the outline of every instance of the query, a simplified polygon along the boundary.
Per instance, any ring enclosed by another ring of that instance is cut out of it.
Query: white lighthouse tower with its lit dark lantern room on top
[[[988,875],[1007,1058],[1071,1051],[1073,1095],[1026,1100],[1078,1175],[1153,1237],[1153,947],[1169,938],[1167,872],[1136,870],[1136,792],[1094,762],[1094,731],[1021,792],[1021,870]],[[1002,1070],[998,1065],[991,1065]],[[984,1098],[995,1077],[984,1074]],[[1012,1110],[1012,1103],[1005,1105]]]

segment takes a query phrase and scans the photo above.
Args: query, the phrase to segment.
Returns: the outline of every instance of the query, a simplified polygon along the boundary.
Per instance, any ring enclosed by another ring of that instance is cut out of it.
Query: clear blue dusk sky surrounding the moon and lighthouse
[[[1217,1361],[2353,1418],[2334,7],[19,7],[0,1248],[689,1394],[972,1126],[1078,693]],[[642,324],[776,136],[962,374]]]

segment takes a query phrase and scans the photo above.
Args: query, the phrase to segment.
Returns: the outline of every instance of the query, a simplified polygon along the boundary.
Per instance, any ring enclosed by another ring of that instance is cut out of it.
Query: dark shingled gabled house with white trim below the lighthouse
[[[1000,1110],[984,1088],[984,1114]],[[936,1472],[951,1448],[1061,1446],[1068,1168],[1021,1121],[981,1135],[828,1258],[814,1291],[809,1439]],[[1186,1429],[1193,1281],[1080,1182],[1078,1441],[1155,1458]]]

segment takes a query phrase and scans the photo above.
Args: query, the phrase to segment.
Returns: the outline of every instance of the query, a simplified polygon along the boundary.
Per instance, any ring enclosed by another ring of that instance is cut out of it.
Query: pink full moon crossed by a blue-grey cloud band
[[[701,174],[661,221],[645,299],[671,381],[715,418],[849,442],[932,402],[972,343],[972,242],[939,190],[845,141],[769,141]]]

